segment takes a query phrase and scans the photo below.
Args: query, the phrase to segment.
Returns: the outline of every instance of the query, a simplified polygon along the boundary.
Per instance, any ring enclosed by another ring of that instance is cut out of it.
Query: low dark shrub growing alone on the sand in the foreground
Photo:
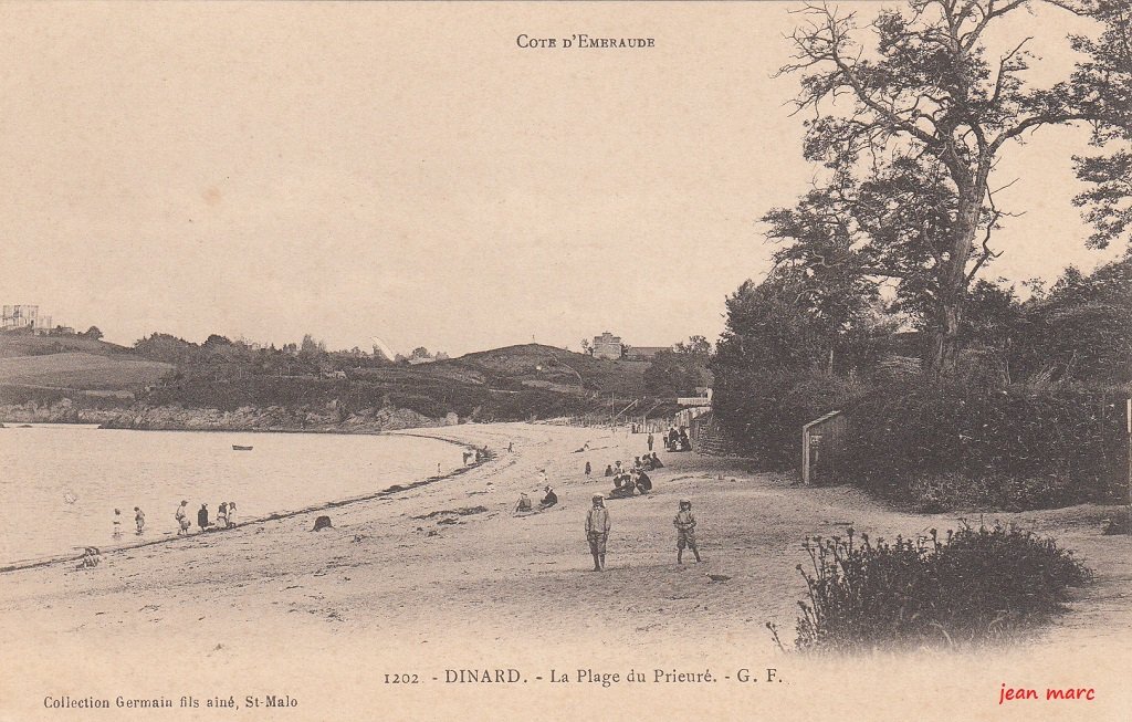
[[[1089,570],[1049,539],[1013,527],[964,526],[940,540],[861,535],[807,540],[811,568],[798,565],[808,602],[799,602],[796,646],[854,652],[874,647],[957,646],[1003,638],[1048,619],[1069,586]]]

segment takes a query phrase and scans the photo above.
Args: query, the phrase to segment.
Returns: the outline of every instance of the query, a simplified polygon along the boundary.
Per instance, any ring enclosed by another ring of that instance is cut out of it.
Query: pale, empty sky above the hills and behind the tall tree
[[[713,338],[814,173],[772,77],[792,7],[0,5],[0,300],[120,343]],[[1069,203],[1083,138],[1010,151],[992,276],[1113,256]]]

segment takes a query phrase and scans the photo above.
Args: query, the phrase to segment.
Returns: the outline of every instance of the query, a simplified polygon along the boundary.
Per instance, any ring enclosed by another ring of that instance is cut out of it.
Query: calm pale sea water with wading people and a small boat
[[[251,446],[238,452],[232,445]],[[0,565],[173,536],[208,505],[235,522],[447,473],[460,446],[408,436],[131,431],[67,424],[0,429]],[[134,507],[145,512],[136,535]],[[121,510],[115,538],[114,509]]]

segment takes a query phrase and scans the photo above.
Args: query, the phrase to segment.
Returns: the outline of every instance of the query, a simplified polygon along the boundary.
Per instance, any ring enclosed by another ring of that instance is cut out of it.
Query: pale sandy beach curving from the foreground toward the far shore
[[[901,699],[931,694],[940,695],[940,719],[950,703],[971,719],[972,697],[985,699],[988,719],[1055,719],[1064,707],[998,706],[998,681],[988,679],[998,680],[994,672],[1001,670],[1003,682],[1097,687],[1130,659],[1132,544],[1100,535],[1100,519],[1112,509],[985,517],[1052,534],[1097,571],[1097,583],[1077,593],[1071,612],[1032,642],[987,655],[877,655],[847,668],[782,653],[764,626],[778,625],[782,641],[792,642],[797,601],[805,595],[795,568],[806,559],[803,539],[843,534],[849,525],[873,538],[916,535],[954,528],[959,515],[901,513],[848,488],[801,488],[787,475],[755,473],[741,459],[661,453],[666,467],[652,474],[652,493],[607,501],[608,568],[594,573],[583,531],[590,497],[611,488],[601,475],[607,464],[632,463],[646,449],[644,435],[520,423],[411,433],[487,445],[497,455],[465,473],[378,498],[113,551],[91,570],[54,564],[0,575],[0,657],[10,672],[0,691],[8,699],[2,708],[16,715],[7,719],[67,714],[45,707],[48,695],[111,702],[118,695],[195,696],[204,705],[206,697],[265,694],[299,700],[277,719],[346,719],[325,714],[343,708],[372,719],[383,708],[396,710],[385,719],[438,719],[445,711],[483,719],[492,716],[492,705],[528,700],[555,705],[538,715],[550,717],[565,714],[559,705],[583,693],[617,695],[606,719],[634,719],[637,695],[649,704],[670,696],[668,708],[688,713],[726,716],[747,700],[790,715],[779,719],[832,719],[837,705],[823,700],[822,690],[846,680],[857,689],[876,686],[874,719],[900,719]],[[590,450],[578,452],[585,444]],[[542,469],[559,504],[513,515],[520,492],[541,497]],[[701,565],[689,564],[691,555],[676,565],[671,519],[681,497],[693,501],[700,521]],[[320,514],[334,527],[315,533]],[[978,523],[978,515],[970,521]],[[730,578],[711,583],[707,573]],[[1105,647],[1112,654],[1098,655]],[[1096,680],[1057,677],[1074,655],[1092,660],[1078,669],[1095,669]],[[1112,669],[1097,660],[1110,660]],[[503,697],[497,686],[488,697],[491,685],[445,681],[446,670],[463,668],[516,669],[525,681]],[[580,668],[623,678],[629,668],[645,670],[649,689],[580,684]],[[765,677],[765,668],[784,681],[738,686],[734,679],[740,669]],[[710,669],[729,679],[652,685],[657,669]],[[551,670],[568,670],[573,684],[549,684]],[[397,673],[419,676],[419,684],[386,684],[386,674]],[[129,688],[123,679],[134,680]],[[1091,703],[1089,719],[1118,719],[1129,699],[1122,686],[1108,687]],[[165,712],[216,714],[204,706]],[[114,708],[70,714],[122,719]]]

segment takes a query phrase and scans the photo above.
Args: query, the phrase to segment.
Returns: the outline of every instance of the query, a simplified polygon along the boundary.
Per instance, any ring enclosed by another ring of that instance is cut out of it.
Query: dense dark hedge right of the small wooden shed
[[[1123,501],[1123,398],[1118,389],[890,384],[848,412],[838,479],[927,510]]]

